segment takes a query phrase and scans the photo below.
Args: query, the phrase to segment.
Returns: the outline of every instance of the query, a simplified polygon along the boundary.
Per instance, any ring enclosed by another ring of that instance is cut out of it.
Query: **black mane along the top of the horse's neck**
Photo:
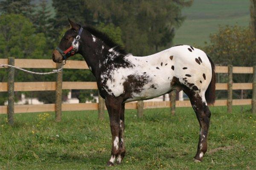
[[[128,53],[125,51],[124,48],[122,48],[121,45],[116,43],[111,37],[108,36],[105,32],[99,31],[96,28],[92,26],[84,26],[85,30],[89,31],[91,34],[93,34],[95,37],[102,40],[106,45],[108,45],[110,48],[114,48],[115,51],[119,52],[120,54],[127,55]]]

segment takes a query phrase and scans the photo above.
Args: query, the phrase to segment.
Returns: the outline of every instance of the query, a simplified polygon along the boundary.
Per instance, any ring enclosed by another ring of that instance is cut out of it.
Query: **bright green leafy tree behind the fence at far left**
[[[42,58],[45,56],[46,38],[43,33],[35,33],[31,21],[22,14],[2,14],[0,16],[0,58]],[[0,82],[7,82],[7,71],[0,69]],[[15,72],[15,81],[52,79],[51,76],[38,77],[22,71]],[[6,95],[0,94],[0,104],[6,101]]]

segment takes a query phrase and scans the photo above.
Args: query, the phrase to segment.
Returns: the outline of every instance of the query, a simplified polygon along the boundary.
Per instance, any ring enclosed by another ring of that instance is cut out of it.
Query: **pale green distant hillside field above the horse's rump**
[[[194,0],[183,9],[186,20],[175,33],[174,44],[204,45],[218,26],[248,26],[250,0]]]

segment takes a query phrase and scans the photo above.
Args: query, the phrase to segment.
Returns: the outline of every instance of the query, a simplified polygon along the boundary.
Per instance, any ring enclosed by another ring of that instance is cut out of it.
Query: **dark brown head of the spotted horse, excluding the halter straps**
[[[71,21],[70,19],[68,19],[71,28],[68,29],[65,34],[63,35],[63,37],[61,38],[61,42],[58,45],[58,48],[61,51],[65,51],[68,48],[70,48],[73,44],[73,42],[76,40],[76,36],[78,35],[79,29],[81,26],[79,26],[78,24],[74,23],[73,21]],[[53,62],[62,62],[64,60],[63,55],[61,54],[60,50],[58,51],[57,49],[55,49],[52,52],[52,60]],[[73,52],[76,53],[78,51],[78,45],[76,46],[76,48],[73,49]],[[67,55],[67,58],[69,56]]]

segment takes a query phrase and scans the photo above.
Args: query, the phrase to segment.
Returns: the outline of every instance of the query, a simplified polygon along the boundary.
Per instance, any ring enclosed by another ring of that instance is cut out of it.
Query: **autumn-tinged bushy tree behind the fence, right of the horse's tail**
[[[249,27],[220,26],[217,33],[210,35],[210,43],[204,51],[212,58],[215,65],[253,66],[255,65],[255,45],[252,41],[253,32]],[[227,77],[220,77],[219,82],[227,82]],[[251,82],[252,74],[234,74],[234,82]],[[223,93],[217,93],[221,97]],[[244,91],[244,96],[250,96],[250,91]],[[240,93],[234,91],[234,96]]]

